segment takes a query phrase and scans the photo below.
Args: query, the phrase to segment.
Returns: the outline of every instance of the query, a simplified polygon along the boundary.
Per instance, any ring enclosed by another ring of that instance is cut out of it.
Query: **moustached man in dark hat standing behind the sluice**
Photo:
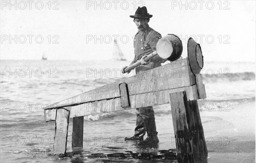
[[[134,23],[138,28],[138,32],[134,37],[134,60],[131,65],[138,60],[142,65],[136,67],[136,73],[150,70],[155,67],[161,66],[161,63],[165,62],[165,59],[155,56],[150,61],[145,62],[145,57],[156,51],[156,45],[161,38],[161,34],[154,31],[148,25],[149,19],[152,15],[148,14],[147,8],[138,7],[134,15],[130,16],[134,18]],[[127,66],[122,68],[122,73]],[[130,71],[128,72],[130,73]],[[137,121],[134,136],[131,138],[125,138],[125,140],[139,140],[138,145],[148,145],[150,143],[157,144],[159,142],[157,138],[156,124],[154,118],[153,107],[141,107],[137,108]],[[148,137],[143,141],[143,136],[147,132]]]

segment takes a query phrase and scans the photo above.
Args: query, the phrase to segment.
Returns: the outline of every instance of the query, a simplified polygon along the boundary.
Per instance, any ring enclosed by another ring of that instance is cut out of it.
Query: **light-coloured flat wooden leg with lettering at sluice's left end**
[[[53,144],[53,151],[55,154],[66,154],[69,113],[69,110],[64,108],[57,109],[56,111],[55,137]]]

